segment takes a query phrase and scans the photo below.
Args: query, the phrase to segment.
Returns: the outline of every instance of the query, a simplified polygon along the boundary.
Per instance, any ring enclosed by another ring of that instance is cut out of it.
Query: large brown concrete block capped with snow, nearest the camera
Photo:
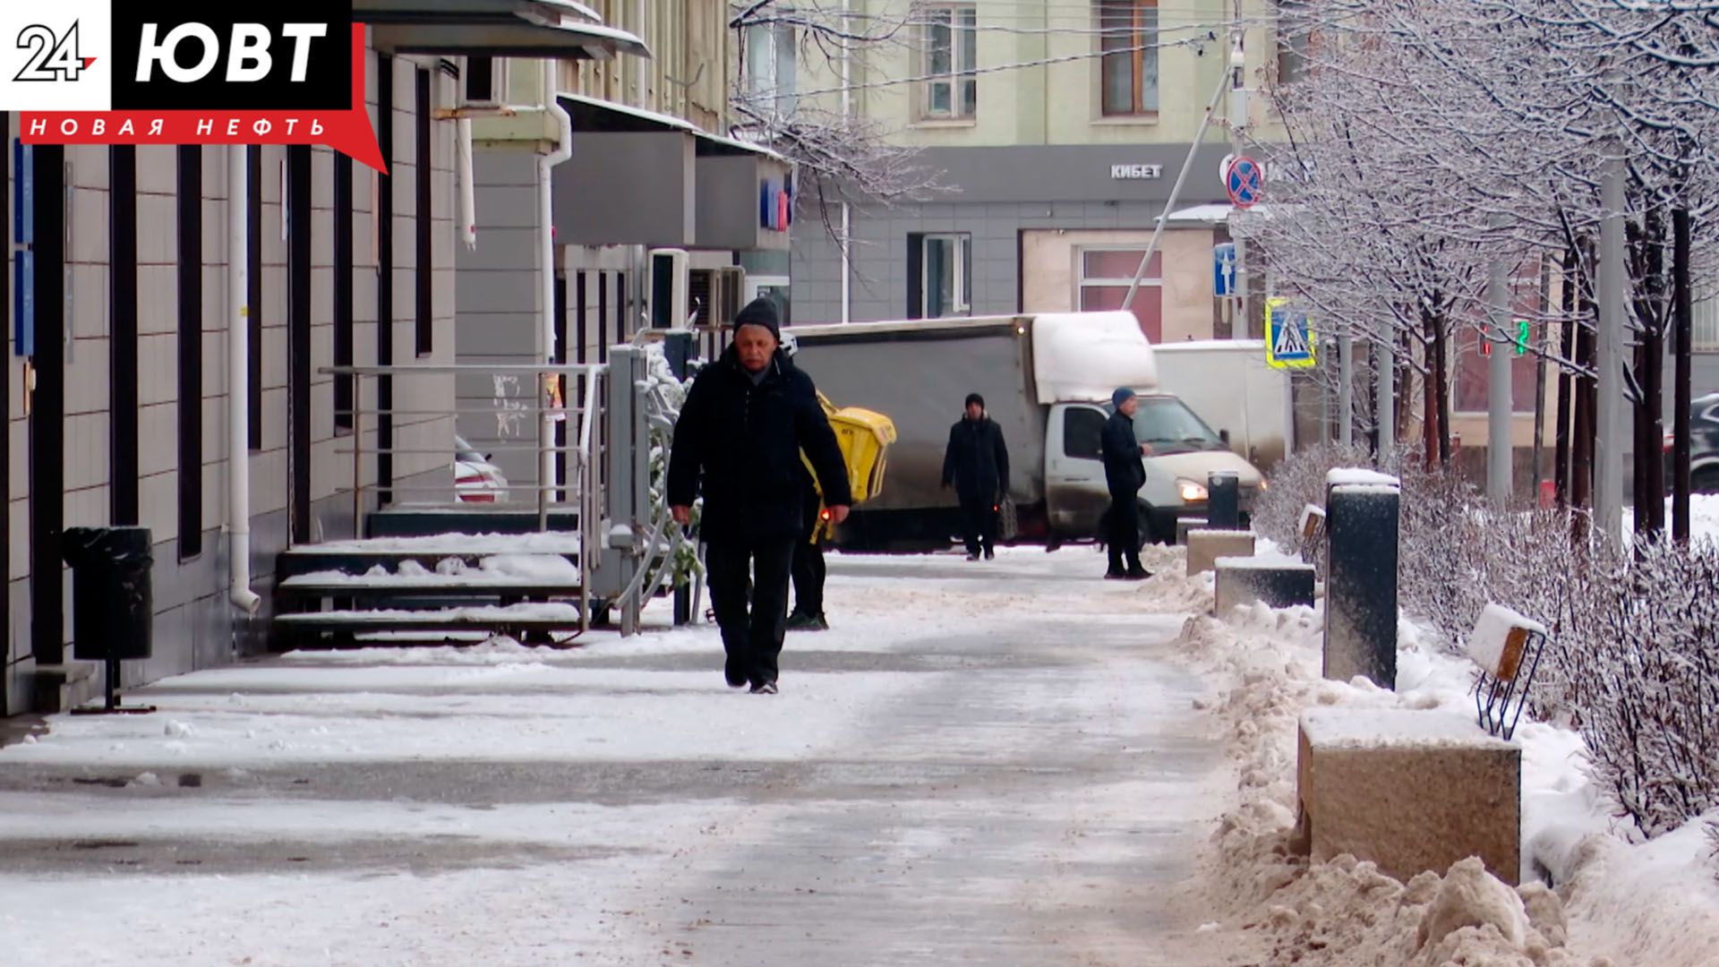
[[[1520,745],[1466,716],[1408,709],[1313,709],[1296,745],[1293,845],[1315,862],[1349,853],[1406,883],[1480,857],[1518,881]]]

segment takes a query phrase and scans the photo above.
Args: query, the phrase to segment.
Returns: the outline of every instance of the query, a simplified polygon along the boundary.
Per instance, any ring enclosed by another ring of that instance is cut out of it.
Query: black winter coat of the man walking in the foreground
[[[756,385],[729,348],[705,366],[681,406],[669,454],[669,504],[691,506],[703,473],[700,530],[712,544],[799,537],[804,449],[829,506],[851,504],[847,465],[811,377],[775,354]]]

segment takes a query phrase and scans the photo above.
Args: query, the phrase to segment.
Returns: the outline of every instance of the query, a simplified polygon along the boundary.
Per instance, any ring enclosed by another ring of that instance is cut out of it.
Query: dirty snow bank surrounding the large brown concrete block
[[[1248,929],[1270,936],[1270,962],[1719,962],[1719,884],[1700,824],[1649,843],[1626,841],[1588,776],[1581,738],[1545,723],[1525,721],[1516,733],[1523,888],[1463,864],[1442,878],[1428,872],[1401,884],[1367,862],[1339,857],[1310,865],[1294,855],[1296,728],[1305,709],[1473,716],[1473,664],[1444,654],[1435,633],[1401,626],[1398,692],[1320,678],[1317,609],[1257,604],[1238,607],[1227,623],[1191,618],[1181,645],[1190,664],[1226,683],[1207,707],[1236,767],[1236,800],[1212,838],[1215,900]]]

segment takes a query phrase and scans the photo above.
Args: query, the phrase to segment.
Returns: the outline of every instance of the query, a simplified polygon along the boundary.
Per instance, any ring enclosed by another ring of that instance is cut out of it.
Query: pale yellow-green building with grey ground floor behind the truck
[[[1275,55],[1260,10],[1245,9],[1246,77],[1257,84]],[[904,40],[847,65],[799,65],[799,96],[830,102],[846,69],[849,110],[921,148],[918,163],[942,172],[942,189],[887,208],[856,205],[846,258],[827,234],[799,232],[794,320],[1121,306],[1226,76],[1234,5],[854,0],[853,10],[872,24],[904,21]],[[1214,299],[1214,244],[1227,239],[1229,103],[1200,139],[1133,305],[1153,341],[1229,334]],[[1269,131],[1263,107],[1251,114],[1253,134]]]

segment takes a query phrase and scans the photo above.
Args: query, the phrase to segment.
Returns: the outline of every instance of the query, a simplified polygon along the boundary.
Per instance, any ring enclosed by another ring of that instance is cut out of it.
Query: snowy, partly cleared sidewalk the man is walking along
[[[835,557],[782,695],[713,630],[299,654],[0,750],[36,964],[1227,964],[1181,578]],[[1207,599],[1208,602],[1208,599]],[[660,607],[660,606],[658,606]],[[1246,962],[1246,960],[1239,960]]]

